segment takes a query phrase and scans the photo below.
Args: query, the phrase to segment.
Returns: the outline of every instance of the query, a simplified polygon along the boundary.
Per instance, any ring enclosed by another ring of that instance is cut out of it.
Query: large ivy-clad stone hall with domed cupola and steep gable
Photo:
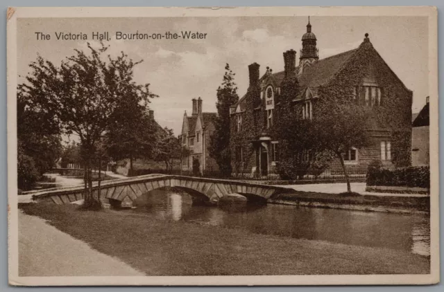
[[[296,107],[302,119],[316,116],[316,102],[329,98],[332,91],[341,91],[357,104],[371,108],[370,145],[361,149],[351,147],[343,153],[349,173],[365,174],[368,164],[374,160],[382,161],[386,167],[410,165],[412,91],[373,48],[368,34],[358,48],[322,60],[318,57],[316,41],[308,23],[297,66],[293,50],[283,53],[284,71],[274,73],[266,67],[260,77],[259,64],[248,66],[248,90],[230,108],[233,169],[261,176],[274,172],[280,141],[273,133],[273,125],[280,118],[280,98],[287,88],[282,82],[289,75],[295,76],[299,83],[291,106]],[[241,138],[247,132],[255,135],[248,141]],[[329,172],[342,172],[339,159],[334,160]]]

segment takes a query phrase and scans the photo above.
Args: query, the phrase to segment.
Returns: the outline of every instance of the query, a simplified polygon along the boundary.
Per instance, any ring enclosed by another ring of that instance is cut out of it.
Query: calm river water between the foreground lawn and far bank
[[[157,219],[243,228],[250,232],[330,241],[340,244],[410,250],[429,255],[429,218],[384,212],[359,212],[284,205],[228,202],[193,206],[187,194],[155,190],[135,202]]]

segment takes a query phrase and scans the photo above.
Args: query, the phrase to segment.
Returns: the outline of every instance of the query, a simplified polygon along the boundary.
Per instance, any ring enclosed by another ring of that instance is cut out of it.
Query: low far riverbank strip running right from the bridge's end
[[[268,203],[370,212],[422,213],[430,210],[429,196],[413,197],[403,194],[381,196],[294,191],[278,194],[268,199]]]

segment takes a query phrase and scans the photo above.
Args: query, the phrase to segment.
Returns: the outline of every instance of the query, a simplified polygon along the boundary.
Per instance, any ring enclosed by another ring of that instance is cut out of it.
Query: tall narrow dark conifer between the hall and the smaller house
[[[218,116],[214,121],[214,133],[210,138],[209,153],[219,165],[223,176],[230,176],[231,152],[230,152],[230,107],[239,100],[237,86],[234,82],[234,73],[230,65],[225,65],[223,82],[217,89],[216,109]]]

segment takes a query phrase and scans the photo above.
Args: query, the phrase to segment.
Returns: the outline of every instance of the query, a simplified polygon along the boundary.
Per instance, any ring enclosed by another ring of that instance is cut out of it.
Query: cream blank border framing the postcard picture
[[[26,286],[67,285],[336,285],[434,284],[439,281],[438,234],[438,46],[434,7],[254,7],[254,8],[10,8],[7,35],[8,76],[8,245],[9,282]],[[429,17],[431,274],[429,275],[287,275],[287,276],[146,276],[19,277],[17,225],[17,18],[18,17],[235,17],[235,16],[427,16]]]

